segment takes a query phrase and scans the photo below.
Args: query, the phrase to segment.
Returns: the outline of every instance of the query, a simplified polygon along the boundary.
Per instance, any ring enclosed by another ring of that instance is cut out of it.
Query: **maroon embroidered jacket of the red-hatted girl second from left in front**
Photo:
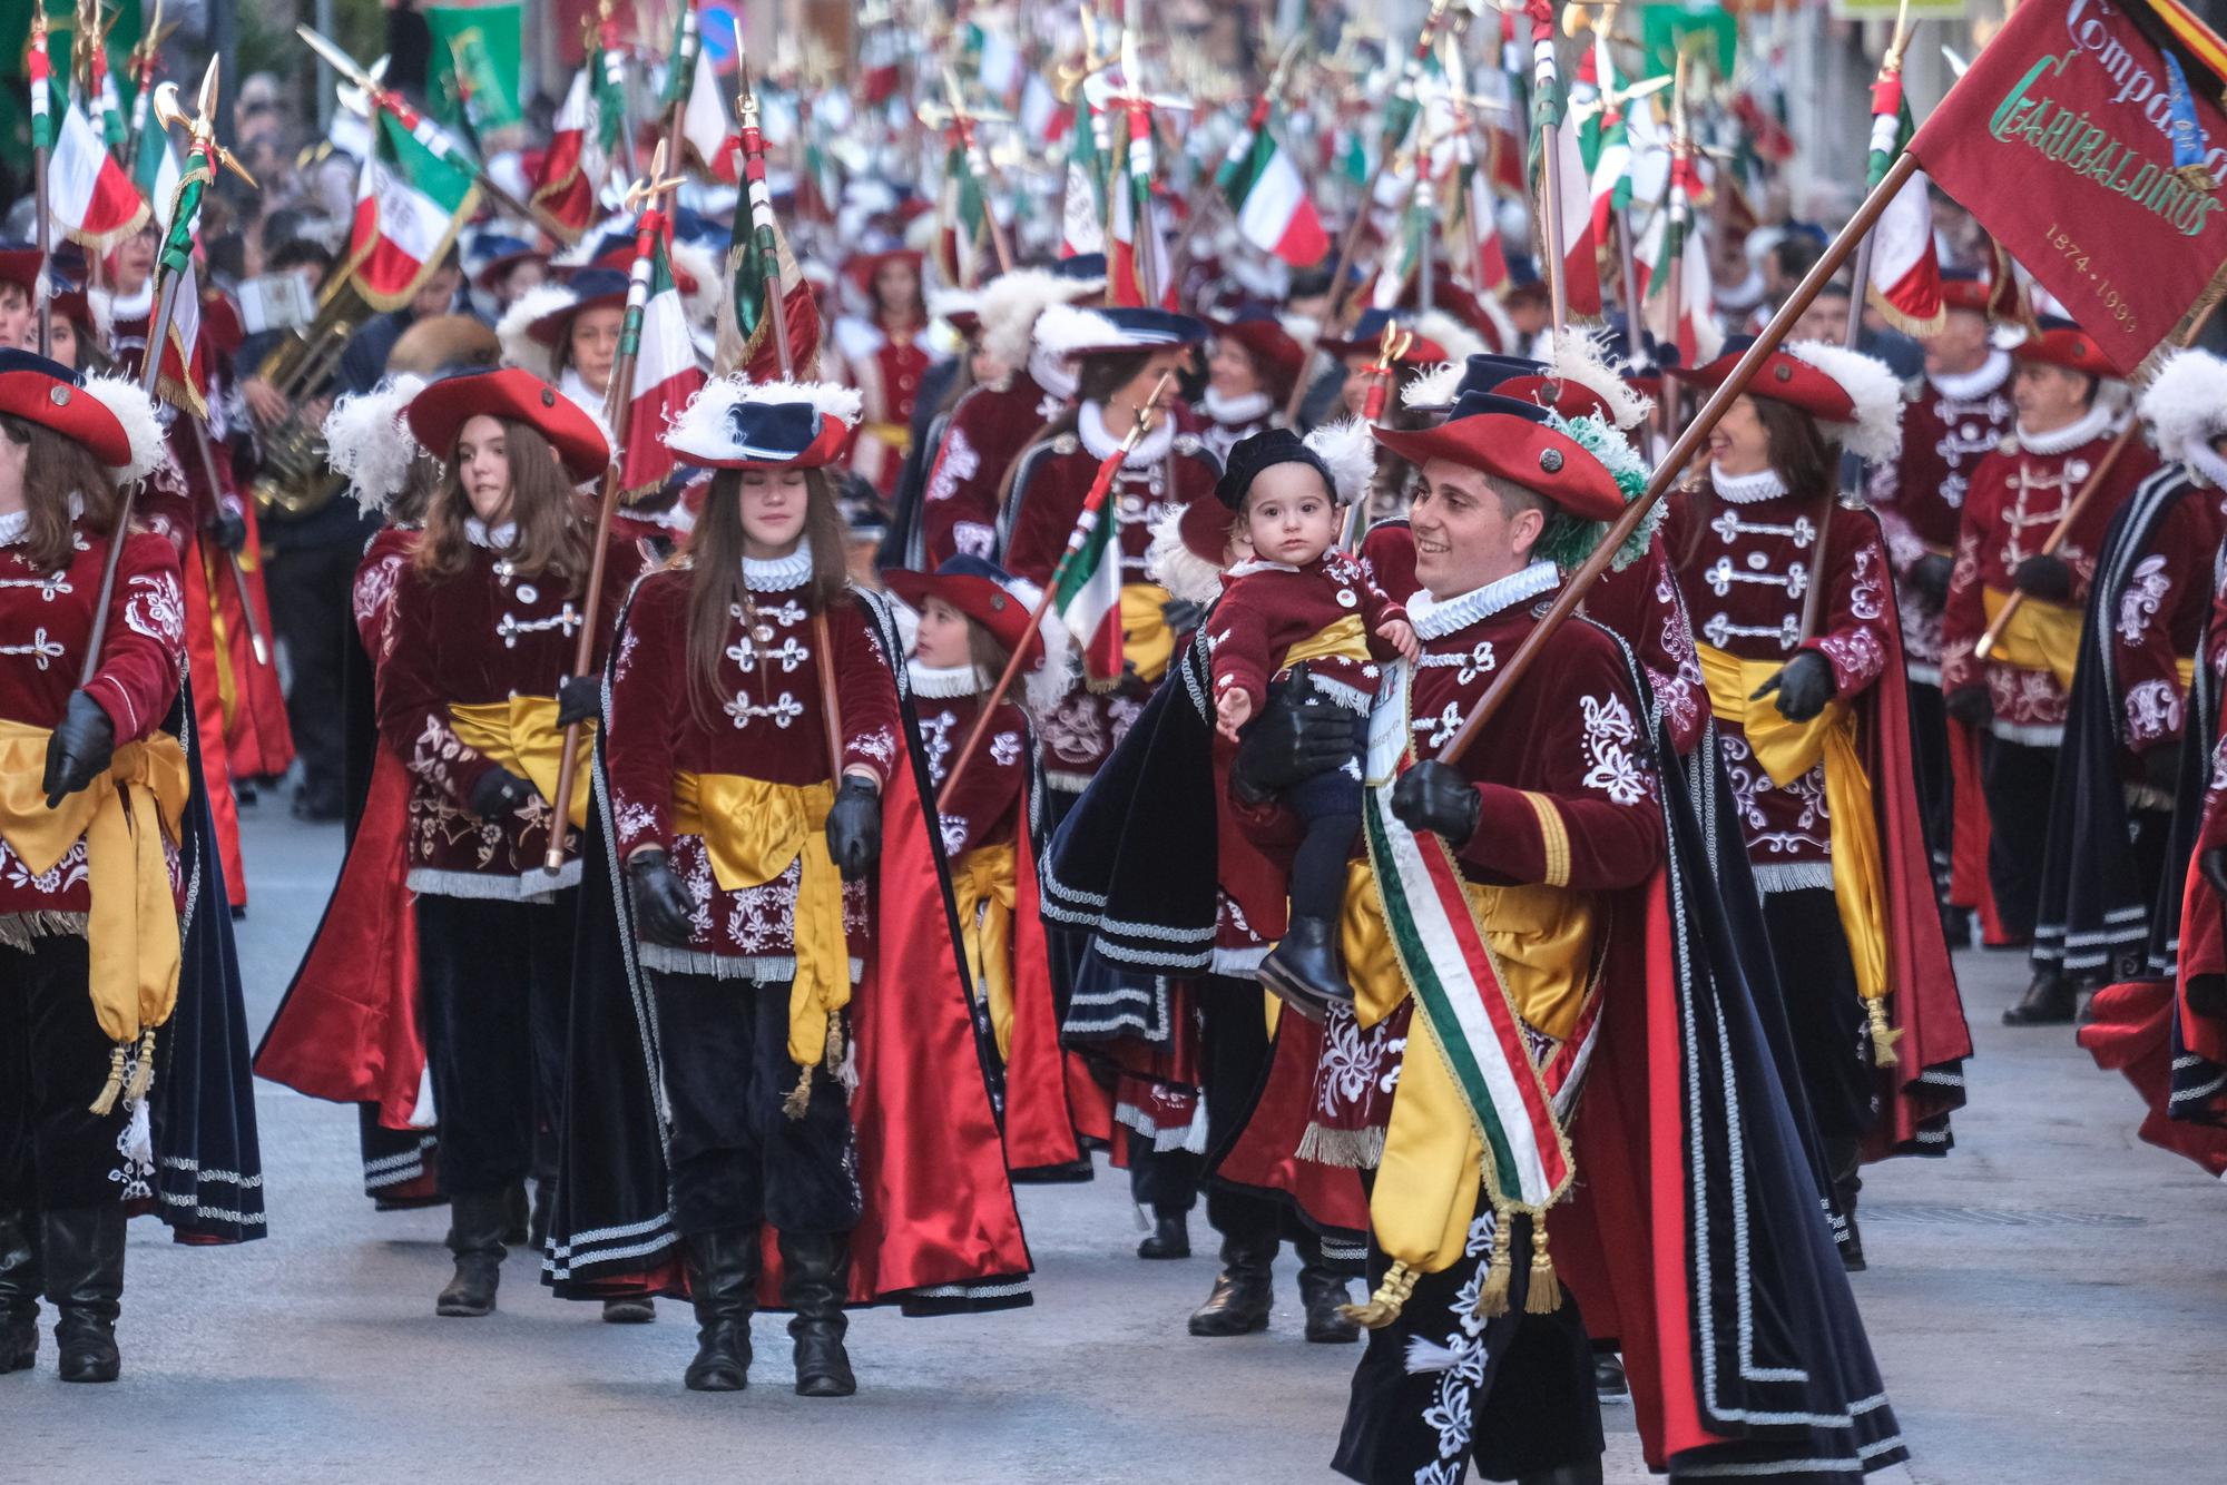
[[[481,532],[479,523],[470,523]],[[485,541],[485,537],[481,537]],[[597,657],[628,586],[641,572],[635,545],[612,543],[597,614]],[[465,748],[452,706],[550,697],[572,672],[581,603],[566,579],[519,577],[474,541],[463,572],[434,581],[405,563],[396,574],[379,666],[379,737],[410,770],[410,888],[439,897],[541,897],[579,879],[579,833],[566,868],[541,871],[550,808],[534,795],[503,819],[472,815],[472,784],[494,764]]]

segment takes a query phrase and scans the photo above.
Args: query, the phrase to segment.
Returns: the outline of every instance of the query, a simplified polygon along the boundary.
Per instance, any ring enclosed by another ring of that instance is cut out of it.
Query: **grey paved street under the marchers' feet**
[[[241,924],[261,1031],[339,864],[339,830],[245,810],[254,911]],[[1960,955],[1980,1060],[1958,1149],[1895,1162],[1864,1198],[1857,1296],[1922,1483],[2220,1478],[2227,1191],[2133,1140],[2136,1102],[2064,1031],[1998,1024],[2022,982]],[[788,1391],[786,1336],[759,1322],[746,1394],[679,1385],[693,1325],[604,1327],[514,1253],[501,1311],[436,1320],[443,1211],[379,1216],[356,1184],[354,1115],[263,1084],[272,1238],[187,1251],[134,1227],[125,1378],[0,1378],[0,1481],[1316,1481],[1354,1351],[1276,1327],[1205,1343],[1183,1318],[1214,1276],[1138,1262],[1122,1180],[1038,1187],[1022,1213],[1033,1309],[853,1322],[860,1396]],[[1285,1260],[1285,1267],[1289,1260]],[[1630,1412],[1610,1478],[1646,1478]]]

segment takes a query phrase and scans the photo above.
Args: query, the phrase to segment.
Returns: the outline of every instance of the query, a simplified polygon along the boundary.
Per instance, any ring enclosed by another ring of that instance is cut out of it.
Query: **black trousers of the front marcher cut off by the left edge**
[[[109,1042],[76,935],[0,946],[0,1211],[69,1211],[122,1196],[127,1109],[94,1113]]]

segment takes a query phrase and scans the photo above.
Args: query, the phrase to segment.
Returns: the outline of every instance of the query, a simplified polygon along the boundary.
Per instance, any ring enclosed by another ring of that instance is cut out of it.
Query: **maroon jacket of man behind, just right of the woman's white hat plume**
[[[1971,474],[2011,432],[2011,356],[1991,352],[1969,376],[1926,378],[1902,407],[1902,454],[1871,465],[1871,508],[1902,583],[1902,652],[1924,686],[1940,684],[1942,610],[1904,579],[1922,557],[1955,557]]]

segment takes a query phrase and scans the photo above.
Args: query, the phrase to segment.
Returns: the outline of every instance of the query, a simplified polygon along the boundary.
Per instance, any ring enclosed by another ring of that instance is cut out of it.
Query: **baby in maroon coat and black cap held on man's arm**
[[[1234,741],[1265,704],[1269,684],[1298,666],[1318,697],[1367,717],[1379,661],[1414,659],[1416,639],[1407,610],[1334,548],[1338,490],[1330,465],[1276,427],[1229,450],[1214,494],[1236,512],[1254,552],[1223,574],[1223,597],[1207,619],[1216,728]],[[1325,1002],[1354,1000],[1334,928],[1345,862],[1361,830],[1358,757],[1301,779],[1283,793],[1283,804],[1305,833],[1292,853],[1292,926],[1260,964],[1260,982],[1318,1017]]]

